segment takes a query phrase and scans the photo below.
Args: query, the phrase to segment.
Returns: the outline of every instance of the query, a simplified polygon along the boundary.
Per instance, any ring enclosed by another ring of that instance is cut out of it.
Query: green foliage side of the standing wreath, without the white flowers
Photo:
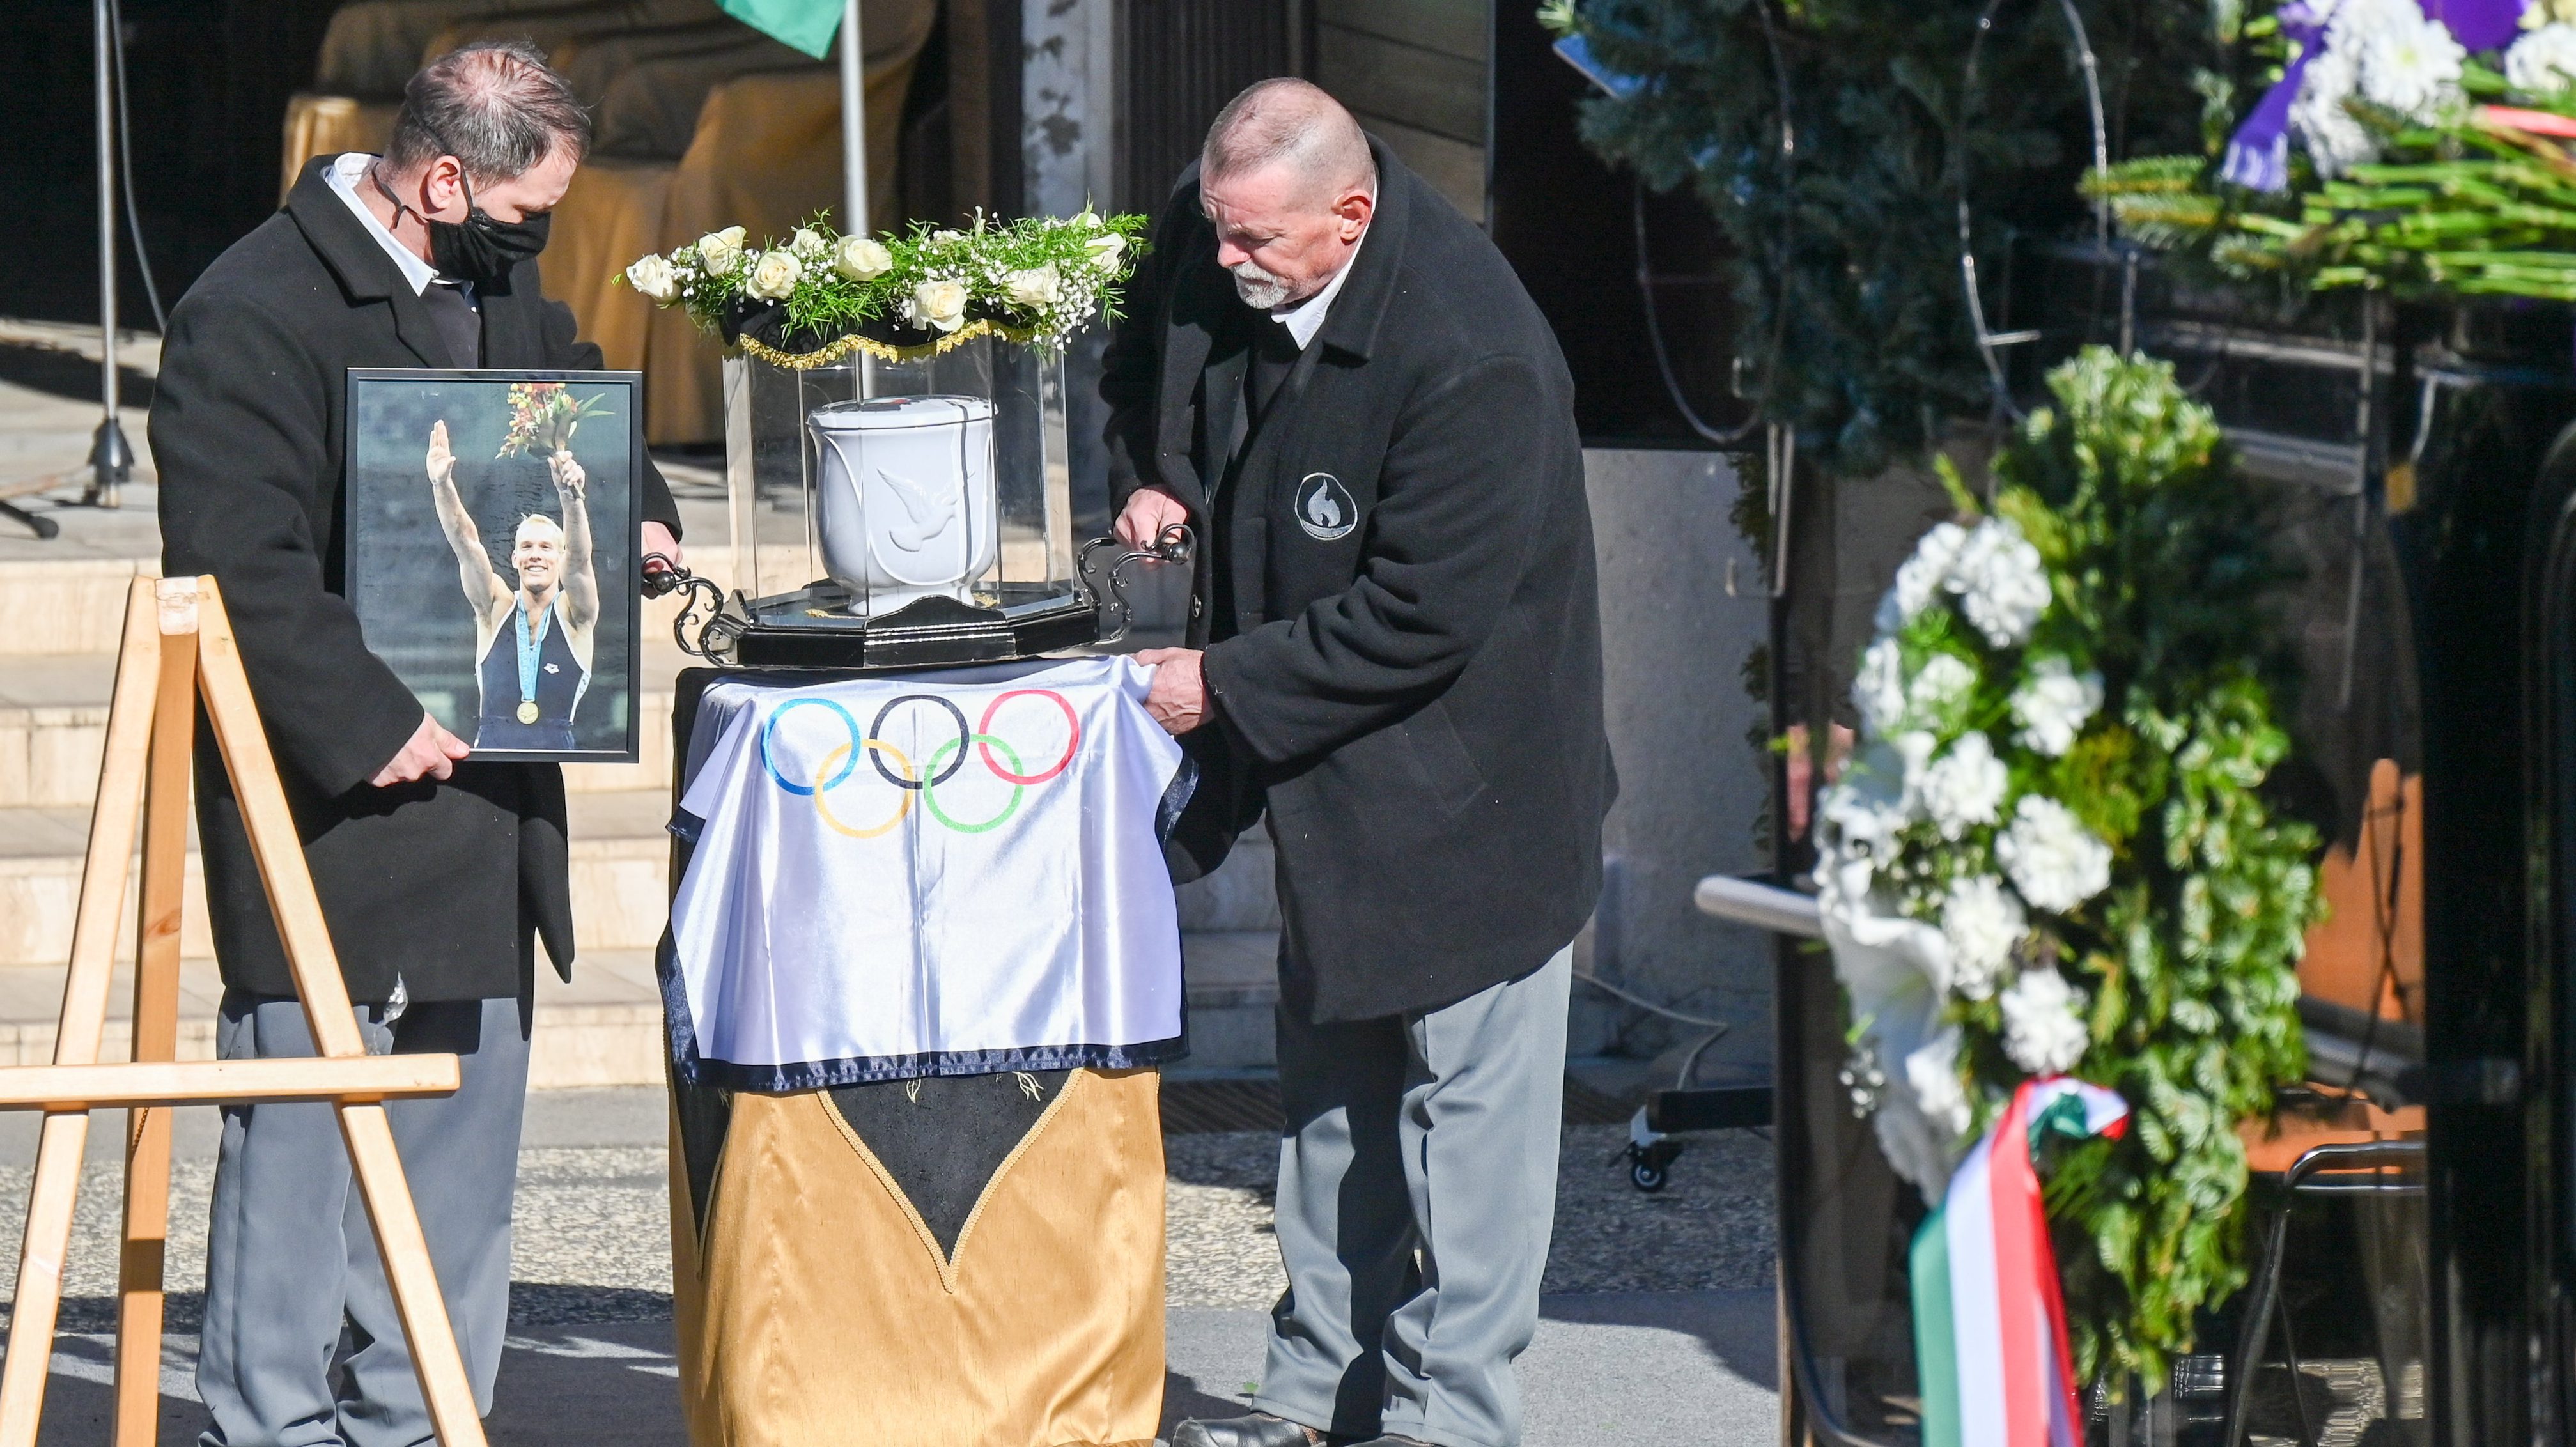
[[[2324,919],[2308,824],[2259,788],[2290,752],[2262,659],[2287,582],[2259,492],[2166,363],[2092,350],[2050,378],[1996,461],[1996,510],[2030,530],[2069,631],[2123,698],[2056,788],[2123,863],[2063,945],[2094,996],[2076,1074],[2128,1097],[2133,1130],[2050,1179],[2079,1370],[2161,1380],[2192,1313],[2246,1280],[2236,1128],[2308,1066],[2298,958]]]

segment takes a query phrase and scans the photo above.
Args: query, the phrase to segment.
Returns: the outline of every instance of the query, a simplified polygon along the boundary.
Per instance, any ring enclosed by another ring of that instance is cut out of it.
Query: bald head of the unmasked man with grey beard
[[[1234,294],[1273,312],[1350,265],[1378,209],[1378,162],[1340,100],[1303,80],[1262,80],[1208,126],[1198,198]]]

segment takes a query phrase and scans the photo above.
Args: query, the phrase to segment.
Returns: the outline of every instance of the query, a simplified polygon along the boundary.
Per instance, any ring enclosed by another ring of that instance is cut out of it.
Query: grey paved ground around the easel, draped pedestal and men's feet
[[[0,1117],[0,1287],[15,1277],[33,1117]],[[191,1380],[216,1120],[180,1112],[170,1241],[162,1442],[204,1426]],[[108,1298],[124,1123],[93,1125],[70,1303],[44,1442],[103,1442]],[[1530,1447],[1615,1437],[1757,1442],[1775,1426],[1770,1153],[1752,1135],[1700,1138],[1646,1197],[1607,1166],[1618,1128],[1569,1128],[1561,1218],[1538,1341],[1522,1357]],[[1257,1135],[1172,1138],[1167,1419],[1242,1411],[1262,1372],[1278,1293],[1267,1159]],[[670,1220],[662,1097],[538,1092],[520,1151],[513,1336],[497,1444],[683,1444],[670,1362]]]

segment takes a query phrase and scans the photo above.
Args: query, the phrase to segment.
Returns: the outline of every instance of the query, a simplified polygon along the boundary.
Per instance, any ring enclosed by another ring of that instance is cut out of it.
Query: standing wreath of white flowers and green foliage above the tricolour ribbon
[[[1860,657],[1816,886],[1852,1012],[1844,1084],[1940,1200],[2035,1076],[2117,1089],[2133,1130],[2050,1166],[2087,1380],[2154,1372],[2244,1280],[2236,1125],[2300,1079],[2316,832],[2259,788],[2264,494],[2172,368],[2092,348],[1996,456],[1991,502],[1896,569]]]

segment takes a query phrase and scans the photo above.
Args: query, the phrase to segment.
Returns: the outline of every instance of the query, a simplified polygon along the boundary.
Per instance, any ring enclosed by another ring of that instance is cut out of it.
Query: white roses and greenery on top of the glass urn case
[[[1118,283],[1144,250],[1144,216],[1084,209],[1061,219],[987,221],[969,229],[842,237],[814,219],[760,247],[742,227],[708,232],[667,255],[636,257],[626,286],[657,306],[685,306],[726,342],[775,353],[768,332],[829,358],[855,345],[940,350],[997,332],[1061,350],[1095,314],[1118,314]],[[791,358],[811,366],[827,358]]]

